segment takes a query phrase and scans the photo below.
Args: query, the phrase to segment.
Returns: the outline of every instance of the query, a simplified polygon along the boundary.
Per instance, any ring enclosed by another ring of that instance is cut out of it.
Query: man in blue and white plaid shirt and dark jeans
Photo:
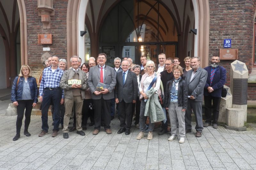
[[[52,66],[43,71],[43,77],[39,88],[39,100],[42,102],[42,131],[38,135],[43,137],[48,133],[48,110],[50,104],[54,107],[54,127],[52,137],[56,137],[60,125],[60,105],[64,103],[64,90],[60,88],[60,79],[63,70],[58,67],[59,57],[52,56]],[[43,102],[44,101],[44,102]]]

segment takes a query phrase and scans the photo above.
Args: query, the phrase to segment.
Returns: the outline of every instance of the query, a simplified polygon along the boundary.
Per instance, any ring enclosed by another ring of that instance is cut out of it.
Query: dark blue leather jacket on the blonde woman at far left
[[[16,85],[18,81],[19,76],[15,77],[12,84],[12,91],[11,91],[11,100],[12,102],[15,102],[17,100],[21,100],[22,98],[22,91],[23,91],[23,82],[25,81],[24,77],[20,77],[19,84],[18,84],[18,90],[16,90]],[[36,78],[34,77],[28,77],[28,83],[30,88],[30,94],[31,99],[33,100],[33,103],[37,103],[38,99],[38,88],[36,84]]]

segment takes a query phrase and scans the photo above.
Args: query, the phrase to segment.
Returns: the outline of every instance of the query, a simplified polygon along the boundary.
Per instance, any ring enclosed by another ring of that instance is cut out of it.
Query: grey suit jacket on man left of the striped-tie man
[[[189,82],[193,71],[193,69],[188,70],[187,76],[185,78],[188,85],[188,96],[194,96],[196,98],[194,99],[195,101],[203,101],[207,71],[199,67],[196,71],[195,76],[193,77],[191,82]]]

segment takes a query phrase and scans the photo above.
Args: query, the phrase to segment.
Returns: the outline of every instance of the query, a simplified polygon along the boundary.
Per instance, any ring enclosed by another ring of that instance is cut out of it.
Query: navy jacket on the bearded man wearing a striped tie
[[[213,92],[209,93],[207,87],[210,86],[212,66],[205,67],[204,70],[208,72],[207,80],[204,86],[204,96],[221,97],[222,86],[226,83],[226,69],[224,67],[216,67],[215,74],[212,79]]]

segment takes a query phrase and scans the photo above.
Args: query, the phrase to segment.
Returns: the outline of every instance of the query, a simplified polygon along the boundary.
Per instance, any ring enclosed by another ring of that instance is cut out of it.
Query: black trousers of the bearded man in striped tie
[[[213,106],[212,106],[213,104]],[[219,118],[220,110],[220,97],[204,96],[204,116],[205,122],[211,124],[217,123]],[[213,107],[213,114],[211,111],[211,106]]]

